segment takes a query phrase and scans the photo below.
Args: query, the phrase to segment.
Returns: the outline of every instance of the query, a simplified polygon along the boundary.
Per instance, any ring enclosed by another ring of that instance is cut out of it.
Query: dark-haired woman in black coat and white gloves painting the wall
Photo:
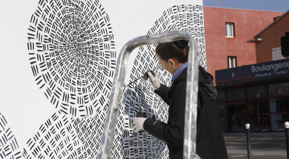
[[[183,158],[188,52],[188,41],[184,40],[156,47],[159,63],[172,74],[171,87],[161,84],[153,71],[148,72],[155,93],[169,105],[168,123],[154,118],[133,118],[135,132],[146,130],[167,143],[170,159]],[[202,159],[228,158],[212,81],[212,75],[199,66],[196,153]]]

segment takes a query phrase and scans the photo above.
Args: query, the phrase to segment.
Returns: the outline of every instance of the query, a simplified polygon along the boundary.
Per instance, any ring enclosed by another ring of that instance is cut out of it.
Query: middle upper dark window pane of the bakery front
[[[267,97],[267,86],[248,87],[247,98],[262,98]]]

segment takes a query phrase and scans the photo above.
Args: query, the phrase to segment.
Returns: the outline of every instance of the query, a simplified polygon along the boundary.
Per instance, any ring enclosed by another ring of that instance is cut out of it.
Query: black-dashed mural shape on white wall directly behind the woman
[[[202,6],[181,5],[167,9],[156,20],[148,34],[172,30],[189,32],[196,39],[200,50],[199,63],[206,68]],[[145,71],[160,66],[155,55],[155,47],[156,45],[139,47],[133,61],[129,83],[142,76]],[[170,73],[163,68],[156,70],[156,73],[161,83],[170,86]],[[138,111],[147,112],[148,117],[154,117],[162,122],[166,122],[168,118],[168,106],[154,93],[150,82],[141,79],[125,88],[112,153],[117,156],[121,149],[123,155],[128,158],[168,158],[164,142],[146,132],[133,132],[132,120]]]

